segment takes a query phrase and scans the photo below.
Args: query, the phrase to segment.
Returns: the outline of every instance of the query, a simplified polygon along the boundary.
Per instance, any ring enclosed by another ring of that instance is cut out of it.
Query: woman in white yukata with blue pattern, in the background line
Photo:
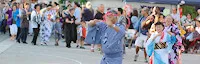
[[[47,10],[44,13],[44,22],[40,26],[40,36],[41,36],[41,45],[47,45],[49,38],[51,36],[53,20],[55,18],[55,12],[51,10],[51,5],[47,6]]]

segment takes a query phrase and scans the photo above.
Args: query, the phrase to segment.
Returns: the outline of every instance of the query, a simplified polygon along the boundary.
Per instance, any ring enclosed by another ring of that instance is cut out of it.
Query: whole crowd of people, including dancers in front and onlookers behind
[[[129,29],[136,31],[131,38],[136,47],[134,61],[139,57],[139,50],[144,49],[147,63],[181,64],[182,52],[196,52],[200,46],[200,9],[199,16],[193,19],[191,13],[180,17],[177,8],[164,16],[159,7],[127,13],[123,8],[105,11],[103,4],[94,10],[90,2],[81,6],[78,2],[66,1],[65,7],[57,2],[36,1],[0,4],[3,5],[0,6],[0,29],[4,34],[8,31],[11,40],[28,44],[27,36],[33,35],[33,45],[37,45],[38,36],[41,45],[48,45],[53,35],[55,46],[63,38],[68,48],[71,42],[81,49],[85,49],[84,44],[92,44],[91,52],[97,44],[104,54],[101,64],[122,64],[125,34]]]

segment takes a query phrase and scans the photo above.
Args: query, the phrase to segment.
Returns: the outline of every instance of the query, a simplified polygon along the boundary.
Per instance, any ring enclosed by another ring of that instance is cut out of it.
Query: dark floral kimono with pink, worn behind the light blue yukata
[[[170,52],[169,54],[169,60],[170,60],[170,64],[176,64],[177,62],[180,62],[180,51],[183,49],[183,45],[182,45],[182,38],[180,36],[180,30],[178,29],[178,26],[176,26],[175,24],[172,24],[170,26],[166,26],[164,29],[165,32],[172,32],[173,35],[176,36],[176,43],[173,45],[172,47],[172,52]]]

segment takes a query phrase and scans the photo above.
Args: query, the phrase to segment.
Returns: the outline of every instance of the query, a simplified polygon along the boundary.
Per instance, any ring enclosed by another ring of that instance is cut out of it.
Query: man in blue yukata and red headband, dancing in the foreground
[[[125,25],[117,23],[117,12],[111,10],[105,14],[105,22],[89,22],[85,41],[89,44],[101,44],[104,56],[100,64],[122,64]]]

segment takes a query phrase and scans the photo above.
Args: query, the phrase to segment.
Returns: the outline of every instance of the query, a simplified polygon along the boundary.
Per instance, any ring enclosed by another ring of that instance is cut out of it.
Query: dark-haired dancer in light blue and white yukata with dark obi
[[[147,55],[153,58],[152,64],[170,64],[169,52],[176,38],[164,31],[164,25],[161,22],[155,24],[155,29],[156,31],[152,33],[146,43]]]

